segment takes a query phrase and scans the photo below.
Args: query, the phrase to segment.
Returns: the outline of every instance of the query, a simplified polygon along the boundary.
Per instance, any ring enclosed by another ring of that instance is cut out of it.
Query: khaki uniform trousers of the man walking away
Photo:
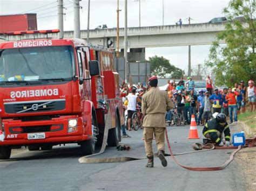
[[[165,128],[144,127],[143,137],[144,137],[145,150],[146,150],[147,157],[153,157],[154,155],[153,149],[152,149],[153,134],[154,134],[154,137],[156,138],[157,150],[164,151]]]

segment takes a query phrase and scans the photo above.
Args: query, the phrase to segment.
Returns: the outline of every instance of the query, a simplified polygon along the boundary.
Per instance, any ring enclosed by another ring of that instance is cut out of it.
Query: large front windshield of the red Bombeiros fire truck
[[[70,81],[74,74],[72,46],[14,48],[0,51],[0,82],[48,79]]]

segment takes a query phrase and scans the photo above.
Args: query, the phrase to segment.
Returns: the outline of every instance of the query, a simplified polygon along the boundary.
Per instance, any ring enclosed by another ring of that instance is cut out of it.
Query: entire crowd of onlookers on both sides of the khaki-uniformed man
[[[172,100],[177,112],[184,116],[185,124],[190,124],[192,114],[196,118],[197,125],[204,125],[214,112],[223,113],[230,119],[230,123],[236,122],[237,116],[245,112],[246,104],[250,104],[250,111],[255,111],[256,87],[252,80],[248,86],[244,81],[235,83],[234,87],[213,88],[210,76],[206,77],[206,87],[194,92],[195,82],[192,77],[183,77],[176,83],[175,80],[167,81],[167,95]],[[120,86],[121,97],[125,109],[127,109],[128,130],[131,130],[131,116],[136,112],[137,105],[141,105],[142,96],[149,90],[149,86],[143,83],[134,85],[123,82]],[[167,111],[166,122],[172,123],[172,112]]]

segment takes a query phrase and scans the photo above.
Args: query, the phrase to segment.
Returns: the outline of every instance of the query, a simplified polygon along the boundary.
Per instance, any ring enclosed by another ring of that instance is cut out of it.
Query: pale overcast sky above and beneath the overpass
[[[73,30],[73,3],[72,0],[63,0],[65,13],[64,31]],[[128,1],[128,27],[139,26],[139,0]],[[124,0],[119,0],[120,27],[124,27]],[[173,25],[179,18],[187,24],[188,17],[191,23],[206,23],[214,17],[224,16],[223,8],[228,0],[164,0],[164,25]],[[80,26],[87,29],[88,0],[80,2]],[[154,26],[163,24],[163,0],[140,0],[141,25]],[[117,0],[91,0],[90,29],[100,24],[116,27]],[[39,30],[57,29],[57,0],[0,0],[0,15],[18,13],[37,13],[37,26]],[[129,35],[129,34],[128,34]],[[129,39],[128,39],[129,40]],[[192,46],[192,68],[204,63],[208,57],[210,46]],[[161,47],[146,48],[146,58],[150,56],[164,56],[171,64],[187,72],[188,47]]]

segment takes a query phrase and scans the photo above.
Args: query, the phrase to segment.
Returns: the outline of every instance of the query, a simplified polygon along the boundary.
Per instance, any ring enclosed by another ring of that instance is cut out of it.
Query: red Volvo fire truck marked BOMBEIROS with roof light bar
[[[9,32],[53,33],[49,31]],[[13,146],[30,151],[76,143],[95,152],[109,129],[107,144],[120,142],[124,124],[114,52],[82,39],[28,39],[0,45],[0,114],[5,138],[0,159]],[[106,126],[106,117],[110,125]]]

